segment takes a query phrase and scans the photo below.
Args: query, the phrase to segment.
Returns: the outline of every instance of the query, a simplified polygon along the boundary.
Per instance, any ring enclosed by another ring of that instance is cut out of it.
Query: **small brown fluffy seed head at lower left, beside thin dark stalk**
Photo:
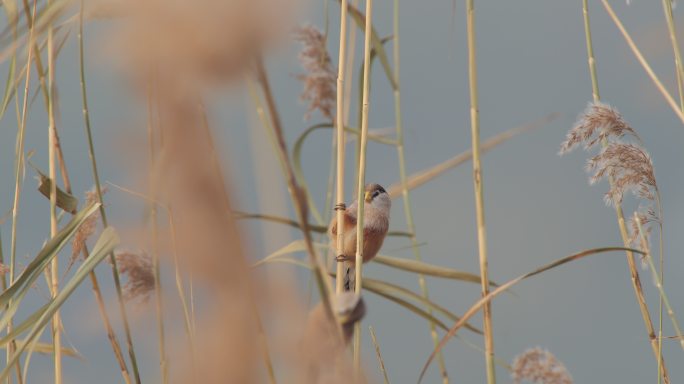
[[[124,285],[126,300],[139,299],[146,303],[154,292],[152,258],[145,252],[121,252],[116,254],[119,272],[126,275]]]

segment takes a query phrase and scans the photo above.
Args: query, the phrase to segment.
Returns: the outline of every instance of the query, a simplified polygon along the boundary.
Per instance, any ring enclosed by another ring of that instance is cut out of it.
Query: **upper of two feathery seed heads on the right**
[[[580,144],[590,149],[604,138],[619,139],[628,134],[639,140],[636,131],[615,108],[600,102],[590,103],[561,143],[559,154],[564,155]]]

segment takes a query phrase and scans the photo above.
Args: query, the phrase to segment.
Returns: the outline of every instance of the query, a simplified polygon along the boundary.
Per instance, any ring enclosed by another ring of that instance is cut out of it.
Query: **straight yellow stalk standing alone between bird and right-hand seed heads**
[[[470,82],[470,128],[473,147],[473,185],[475,187],[475,210],[477,215],[477,239],[480,251],[480,278],[482,297],[489,294],[489,271],[487,266],[487,230],[485,226],[484,193],[482,191],[482,165],[480,162],[480,111],[477,98],[477,62],[475,56],[475,1],[466,0],[468,29],[468,78]],[[492,335],[492,310],[487,303],[483,309],[485,334],[485,361],[487,383],[496,383],[494,369],[494,337]]]

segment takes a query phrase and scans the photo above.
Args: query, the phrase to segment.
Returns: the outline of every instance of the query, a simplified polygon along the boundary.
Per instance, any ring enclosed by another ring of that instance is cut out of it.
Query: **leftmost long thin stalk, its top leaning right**
[[[33,14],[35,16],[36,3],[33,3]],[[30,14],[30,13],[29,13]],[[17,132],[17,143],[15,151],[15,165],[14,165],[14,200],[12,202],[12,238],[10,240],[10,270],[9,270],[9,283],[12,285],[14,283],[14,277],[16,275],[16,255],[17,255],[17,224],[19,219],[19,200],[21,196],[21,185],[22,185],[22,172],[24,169],[24,133],[26,131],[26,121],[28,116],[28,99],[29,99],[29,86],[31,83],[31,60],[33,60],[33,27],[29,29],[29,50],[27,54],[26,61],[26,82],[24,83],[24,100],[22,103],[21,119],[19,122],[19,132]],[[11,304],[11,302],[10,302]],[[10,321],[7,326],[7,333],[12,331],[12,322]],[[7,348],[7,359],[8,362],[11,360],[14,350],[16,348],[15,341],[12,340]],[[17,380],[22,381],[21,368],[19,367],[19,360],[17,360]],[[8,378],[9,383],[9,378]]]

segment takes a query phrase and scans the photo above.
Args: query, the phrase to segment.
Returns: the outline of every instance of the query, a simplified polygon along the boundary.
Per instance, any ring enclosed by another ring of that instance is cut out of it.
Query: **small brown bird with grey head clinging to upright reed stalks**
[[[375,257],[382,247],[389,229],[390,209],[392,199],[380,184],[367,184],[364,194],[363,210],[363,262]],[[337,218],[330,222],[328,235],[332,241],[332,248],[336,251],[338,262],[344,262],[346,271],[344,276],[345,290],[351,290],[355,280],[356,263],[356,223],[358,202],[354,201],[344,210],[344,231],[342,249],[337,249]]]

